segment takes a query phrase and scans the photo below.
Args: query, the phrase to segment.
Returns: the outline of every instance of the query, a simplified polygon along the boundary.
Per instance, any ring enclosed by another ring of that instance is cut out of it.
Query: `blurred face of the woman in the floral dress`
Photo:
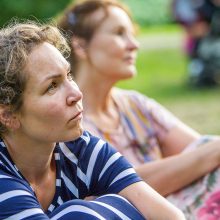
[[[122,9],[110,6],[108,12],[109,15],[89,42],[89,60],[92,67],[108,78],[130,78],[136,73],[135,60],[138,49],[134,27]],[[103,10],[98,10],[92,17],[98,20],[99,17],[102,19],[103,15]]]

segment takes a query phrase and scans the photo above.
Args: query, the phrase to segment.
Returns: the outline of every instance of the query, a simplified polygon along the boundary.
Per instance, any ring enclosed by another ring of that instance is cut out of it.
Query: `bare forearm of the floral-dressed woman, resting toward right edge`
[[[143,164],[136,171],[165,196],[206,175],[219,164],[220,138],[215,138],[191,151]]]

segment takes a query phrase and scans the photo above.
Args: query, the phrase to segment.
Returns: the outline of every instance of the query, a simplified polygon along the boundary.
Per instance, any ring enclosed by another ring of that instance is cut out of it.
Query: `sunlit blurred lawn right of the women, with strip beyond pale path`
[[[142,35],[178,35],[178,27],[142,29]],[[142,36],[143,37],[143,36]],[[164,42],[166,43],[166,42]],[[201,133],[220,133],[220,87],[195,89],[187,85],[187,58],[181,48],[142,48],[137,60],[138,75],[119,87],[136,89],[171,110]]]

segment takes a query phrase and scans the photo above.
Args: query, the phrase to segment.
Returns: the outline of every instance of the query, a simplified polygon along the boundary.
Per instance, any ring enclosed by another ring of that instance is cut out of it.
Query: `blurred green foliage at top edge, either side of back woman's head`
[[[0,27],[13,17],[48,21],[72,0],[0,0]],[[91,0],[92,1],[92,0]],[[121,0],[131,9],[140,25],[164,24],[171,21],[171,0]]]

